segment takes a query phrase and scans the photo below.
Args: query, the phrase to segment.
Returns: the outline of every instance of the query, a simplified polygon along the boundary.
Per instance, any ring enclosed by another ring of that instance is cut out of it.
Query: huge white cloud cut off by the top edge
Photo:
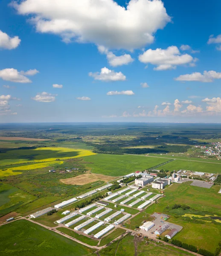
[[[12,5],[19,14],[32,15],[38,32],[110,49],[150,44],[154,33],[171,21],[161,0],[130,0],[126,8],[113,0],[23,0]]]

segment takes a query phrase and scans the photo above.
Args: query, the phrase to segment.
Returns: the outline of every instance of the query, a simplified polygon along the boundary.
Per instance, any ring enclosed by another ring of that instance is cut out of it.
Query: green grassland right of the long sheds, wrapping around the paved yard
[[[130,228],[140,225],[144,213],[152,214],[161,212],[171,216],[169,222],[180,225],[183,229],[174,239],[178,239],[187,244],[194,244],[199,248],[204,248],[211,252],[215,251],[221,240],[221,224],[210,219],[210,222],[202,220],[191,220],[183,217],[185,213],[195,213],[198,215],[218,215],[221,216],[221,195],[218,194],[220,186],[212,186],[211,189],[189,186],[185,183],[169,186],[165,189],[165,197],[160,198],[157,204],[147,207],[144,212],[131,219]],[[174,204],[186,204],[190,209],[172,209]]]

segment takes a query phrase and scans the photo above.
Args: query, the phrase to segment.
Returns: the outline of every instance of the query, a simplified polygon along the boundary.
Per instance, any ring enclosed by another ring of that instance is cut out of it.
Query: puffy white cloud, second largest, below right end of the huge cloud
[[[190,64],[194,61],[191,55],[181,54],[176,46],[170,46],[167,49],[148,49],[138,58],[142,63],[156,65],[154,70],[175,69],[177,65]]]

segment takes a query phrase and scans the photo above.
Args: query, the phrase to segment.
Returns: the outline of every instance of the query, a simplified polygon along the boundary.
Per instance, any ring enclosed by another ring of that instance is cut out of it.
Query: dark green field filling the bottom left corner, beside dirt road
[[[1,256],[85,256],[94,252],[93,249],[26,220],[0,227],[0,248]]]

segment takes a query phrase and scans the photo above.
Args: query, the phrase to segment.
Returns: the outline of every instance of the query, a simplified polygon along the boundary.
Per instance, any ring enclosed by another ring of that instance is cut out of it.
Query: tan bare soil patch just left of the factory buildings
[[[65,184],[71,184],[71,185],[85,185],[88,183],[93,183],[97,180],[102,180],[102,181],[108,182],[113,179],[116,179],[116,177],[100,175],[100,174],[85,173],[85,174],[79,175],[77,177],[62,179],[60,181]]]

